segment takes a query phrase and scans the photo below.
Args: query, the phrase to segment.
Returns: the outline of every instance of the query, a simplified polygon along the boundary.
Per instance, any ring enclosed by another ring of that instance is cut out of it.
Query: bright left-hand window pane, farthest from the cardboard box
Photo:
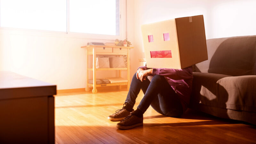
[[[0,27],[67,31],[65,0],[1,0]]]

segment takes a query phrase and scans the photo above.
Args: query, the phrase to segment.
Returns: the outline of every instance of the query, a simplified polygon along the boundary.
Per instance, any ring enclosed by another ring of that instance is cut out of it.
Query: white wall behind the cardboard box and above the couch
[[[137,0],[134,2],[132,70],[145,58],[141,25],[179,17],[204,15],[206,39],[256,35],[255,0]]]

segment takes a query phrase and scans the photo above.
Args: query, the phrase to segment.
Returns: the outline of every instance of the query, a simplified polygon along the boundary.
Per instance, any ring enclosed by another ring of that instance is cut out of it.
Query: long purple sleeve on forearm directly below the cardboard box
[[[193,78],[192,66],[183,69],[173,68],[153,68],[152,75],[160,75],[169,77],[173,80],[191,79]]]

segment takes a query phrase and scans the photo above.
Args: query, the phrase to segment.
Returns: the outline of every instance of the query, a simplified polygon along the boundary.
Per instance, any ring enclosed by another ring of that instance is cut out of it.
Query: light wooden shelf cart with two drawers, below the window
[[[81,46],[86,48],[86,87],[85,91],[89,91],[89,86],[92,86],[92,93],[97,93],[97,88],[100,86],[114,86],[119,85],[121,89],[122,85],[127,85],[127,90],[130,89],[130,49],[133,47],[126,46],[109,46],[109,45],[86,45]],[[89,66],[89,55],[92,55],[92,68]],[[127,55],[127,68],[96,68],[96,55]],[[89,70],[93,71],[93,84],[89,84]],[[127,70],[127,80],[125,83],[114,83],[114,84],[96,84],[96,71],[99,70],[118,70],[118,76],[121,77],[121,70]]]

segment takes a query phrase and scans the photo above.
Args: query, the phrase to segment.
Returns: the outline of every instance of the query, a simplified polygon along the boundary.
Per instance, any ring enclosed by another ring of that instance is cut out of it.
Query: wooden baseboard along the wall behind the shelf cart
[[[122,89],[127,88],[127,85],[122,85]],[[115,91],[119,90],[119,86],[102,86],[102,87],[97,87],[97,91]],[[57,94],[60,93],[69,93],[69,92],[85,92],[85,88],[79,88],[79,89],[64,89],[64,90],[57,90]],[[92,87],[90,87],[90,91],[92,93]]]

